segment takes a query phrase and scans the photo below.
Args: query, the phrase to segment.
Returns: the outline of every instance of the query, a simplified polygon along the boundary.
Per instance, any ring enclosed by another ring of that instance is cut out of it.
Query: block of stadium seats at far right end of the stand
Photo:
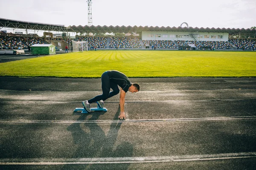
[[[244,39],[230,39],[230,42],[232,42],[234,45],[236,45],[238,48],[244,50],[253,50],[256,49],[256,41],[255,40],[244,40]]]

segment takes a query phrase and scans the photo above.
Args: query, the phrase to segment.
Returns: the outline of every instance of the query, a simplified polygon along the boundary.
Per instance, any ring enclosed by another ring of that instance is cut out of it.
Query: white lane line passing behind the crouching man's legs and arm
[[[130,102],[141,102],[141,103],[152,103],[152,102],[157,102],[157,103],[180,103],[180,102],[214,102],[214,101],[241,101],[241,100],[256,100],[255,98],[245,98],[245,99],[204,99],[204,100],[145,100],[145,101],[125,101],[126,103]],[[66,102],[61,102],[61,101],[0,101],[0,103],[23,103],[23,104],[30,104],[30,103],[50,103],[50,104],[55,104],[55,103],[81,103],[81,102],[72,102],[72,101],[66,101]],[[119,103],[119,101],[108,101],[106,103]]]

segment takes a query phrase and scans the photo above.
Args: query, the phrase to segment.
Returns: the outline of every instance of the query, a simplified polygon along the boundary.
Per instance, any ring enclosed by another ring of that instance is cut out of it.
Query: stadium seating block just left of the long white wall
[[[130,37],[111,37],[109,48],[141,48],[140,39]]]

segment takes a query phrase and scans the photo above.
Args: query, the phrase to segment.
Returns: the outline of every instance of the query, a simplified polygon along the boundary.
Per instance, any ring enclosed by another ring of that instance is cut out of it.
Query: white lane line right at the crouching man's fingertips
[[[125,119],[125,120],[84,120],[84,121],[0,121],[0,123],[139,123],[139,122],[192,122],[215,120],[256,119],[256,116],[206,117],[180,119]]]

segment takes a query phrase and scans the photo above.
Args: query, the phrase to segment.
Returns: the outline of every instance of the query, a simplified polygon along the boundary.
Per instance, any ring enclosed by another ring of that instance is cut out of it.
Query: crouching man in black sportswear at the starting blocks
[[[119,94],[120,92],[120,115],[119,119],[125,119],[125,94],[127,91],[130,91],[131,93],[136,93],[140,91],[140,85],[138,83],[131,83],[125,74],[119,72],[119,71],[105,71],[102,74],[101,77],[102,80],[102,94],[99,96],[95,96],[94,98],[90,100],[85,100],[82,102],[84,105],[84,109],[87,112],[91,112],[90,110],[90,104],[93,102],[96,102],[97,105],[100,108],[103,108],[104,101],[116,94]],[[118,86],[121,88],[119,90]],[[112,88],[113,91],[110,92],[110,88]]]

